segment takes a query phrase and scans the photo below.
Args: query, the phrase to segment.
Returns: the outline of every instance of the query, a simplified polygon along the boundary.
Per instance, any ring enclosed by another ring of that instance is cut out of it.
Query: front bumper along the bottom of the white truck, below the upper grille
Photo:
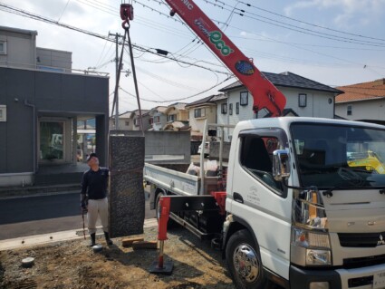
[[[303,269],[294,265],[290,266],[290,288],[330,288],[330,289],[364,289],[373,288],[374,276],[385,275],[385,264],[372,265],[353,269]],[[383,279],[381,279],[382,282]],[[312,283],[329,284],[329,287],[315,286]],[[382,284],[382,283],[381,283]],[[378,288],[382,288],[377,284]],[[384,284],[385,288],[385,284]]]

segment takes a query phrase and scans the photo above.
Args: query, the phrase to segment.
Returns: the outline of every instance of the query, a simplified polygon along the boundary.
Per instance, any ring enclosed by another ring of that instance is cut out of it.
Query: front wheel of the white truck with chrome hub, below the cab
[[[226,263],[238,289],[263,289],[266,278],[261,256],[250,233],[243,229],[230,236]]]

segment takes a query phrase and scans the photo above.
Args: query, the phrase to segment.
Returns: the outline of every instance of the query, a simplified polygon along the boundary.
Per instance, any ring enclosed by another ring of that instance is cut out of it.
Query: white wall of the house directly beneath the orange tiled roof
[[[351,105],[351,115],[347,107]],[[385,120],[385,99],[335,103],[335,114],[347,120]]]

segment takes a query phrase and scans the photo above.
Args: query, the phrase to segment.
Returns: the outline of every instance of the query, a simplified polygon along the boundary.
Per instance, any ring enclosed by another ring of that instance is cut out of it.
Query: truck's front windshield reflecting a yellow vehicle
[[[385,187],[385,130],[293,123],[291,132],[301,186]]]

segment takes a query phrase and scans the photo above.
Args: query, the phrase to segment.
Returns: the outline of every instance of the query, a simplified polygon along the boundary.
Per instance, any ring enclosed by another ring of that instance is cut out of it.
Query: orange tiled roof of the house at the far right
[[[335,98],[336,103],[385,98],[385,79],[341,86],[338,89],[345,93]]]

